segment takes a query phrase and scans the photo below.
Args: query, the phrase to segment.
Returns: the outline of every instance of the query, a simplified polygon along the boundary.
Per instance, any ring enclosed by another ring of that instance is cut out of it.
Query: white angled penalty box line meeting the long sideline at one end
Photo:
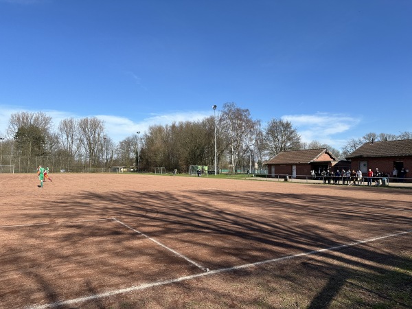
[[[137,229],[133,229],[133,227],[130,227],[126,225],[126,223],[118,220],[117,218],[101,218],[101,219],[91,219],[91,220],[78,220],[78,221],[61,221],[59,222],[60,224],[67,224],[67,223],[79,223],[79,222],[94,222],[94,221],[108,221],[108,220],[113,220],[114,222],[117,222],[119,225],[122,225],[123,227],[126,227],[135,233],[139,234],[140,236],[143,236],[144,238],[155,242],[155,244],[159,245],[163,249],[166,249],[167,251],[172,252],[174,255],[178,256],[179,258],[182,258],[183,260],[189,262],[190,264],[196,266],[197,268],[200,268],[202,271],[209,271],[209,268],[206,268],[202,266],[201,264],[196,263],[194,260],[191,260],[190,258],[187,258],[187,256],[173,250],[172,248],[166,246],[165,244],[162,244],[161,242],[155,240],[154,238],[151,238],[150,236],[146,235],[145,233],[142,233],[141,231],[138,231]],[[6,227],[36,227],[36,226],[41,226],[41,225],[54,225],[56,222],[40,222],[40,223],[32,223],[32,224],[26,224],[26,225],[3,225],[0,226],[1,228],[6,228]]]

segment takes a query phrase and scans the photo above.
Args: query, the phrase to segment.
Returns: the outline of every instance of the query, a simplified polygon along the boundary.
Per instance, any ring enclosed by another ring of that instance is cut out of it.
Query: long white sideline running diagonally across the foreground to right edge
[[[116,219],[114,219],[114,220],[116,220]],[[139,232],[137,231],[137,233],[139,233]],[[198,278],[198,277],[204,277],[204,276],[207,276],[207,275],[215,275],[217,273],[225,273],[225,272],[228,272],[228,271],[236,271],[236,270],[242,269],[242,268],[250,268],[250,267],[258,266],[258,265],[262,265],[262,264],[274,263],[274,262],[279,262],[279,261],[283,261],[283,260],[290,260],[290,259],[293,259],[293,258],[300,258],[300,257],[306,256],[306,255],[314,255],[314,254],[317,254],[317,253],[323,253],[325,251],[338,251],[338,250],[343,249],[343,248],[354,247],[357,244],[365,244],[366,242],[374,242],[376,240],[382,240],[382,239],[385,239],[385,238],[401,236],[401,235],[408,234],[408,233],[412,233],[412,229],[409,230],[409,231],[402,231],[402,232],[399,232],[399,233],[393,233],[393,234],[380,236],[380,237],[376,237],[376,238],[369,238],[367,240],[360,240],[358,242],[351,242],[349,244],[341,244],[339,246],[334,246],[334,247],[330,247],[330,248],[313,250],[313,251],[308,251],[308,252],[305,252],[305,253],[298,253],[298,254],[294,254],[294,255],[288,255],[288,256],[284,256],[282,258],[275,258],[275,259],[271,259],[271,260],[265,260],[265,261],[261,261],[261,262],[250,263],[250,264],[243,264],[243,265],[233,266],[233,267],[228,267],[228,268],[220,268],[220,269],[216,269],[214,271],[208,271],[207,273],[198,273],[198,274],[195,274],[195,275],[184,276],[184,277],[180,277],[180,278],[176,278],[176,279],[170,279],[170,280],[164,280],[164,281],[159,281],[159,282],[141,284],[139,286],[130,286],[129,288],[122,288],[120,290],[112,290],[112,291],[108,291],[106,293],[100,293],[100,294],[85,296],[85,297],[78,297],[78,298],[69,299],[69,300],[66,300],[66,301],[56,301],[55,303],[52,303],[52,304],[34,305],[34,306],[31,306],[31,307],[28,307],[28,308],[29,309],[46,309],[46,308],[55,308],[55,307],[59,307],[59,306],[68,306],[68,305],[72,305],[72,304],[82,303],[84,301],[90,301],[90,300],[93,300],[93,299],[100,299],[100,298],[103,298],[103,297],[110,297],[110,296],[119,295],[119,294],[122,294],[122,293],[129,293],[129,292],[133,292],[133,291],[136,291],[136,290],[144,290],[146,288],[152,288],[154,286],[163,286],[165,284],[172,284],[172,283],[175,283],[175,282],[182,282],[182,281],[185,281],[185,280],[190,280],[190,279],[194,279],[194,278]]]

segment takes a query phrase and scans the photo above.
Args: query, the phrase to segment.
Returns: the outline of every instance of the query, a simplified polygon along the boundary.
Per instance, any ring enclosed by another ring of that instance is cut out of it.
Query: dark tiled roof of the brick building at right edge
[[[346,159],[360,157],[406,157],[412,156],[412,139],[398,141],[375,141],[356,149]]]

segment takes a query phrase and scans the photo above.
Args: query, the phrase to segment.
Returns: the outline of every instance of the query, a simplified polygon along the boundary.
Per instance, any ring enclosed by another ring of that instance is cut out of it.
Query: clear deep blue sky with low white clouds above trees
[[[410,0],[0,0],[0,134],[43,111],[120,141],[225,102],[337,149],[412,131],[411,16]]]

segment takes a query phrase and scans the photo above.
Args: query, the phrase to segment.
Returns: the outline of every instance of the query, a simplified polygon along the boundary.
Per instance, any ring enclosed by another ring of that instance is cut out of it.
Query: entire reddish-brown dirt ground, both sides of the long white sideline
[[[51,176],[1,177],[0,308],[364,308],[412,278],[409,189]]]

